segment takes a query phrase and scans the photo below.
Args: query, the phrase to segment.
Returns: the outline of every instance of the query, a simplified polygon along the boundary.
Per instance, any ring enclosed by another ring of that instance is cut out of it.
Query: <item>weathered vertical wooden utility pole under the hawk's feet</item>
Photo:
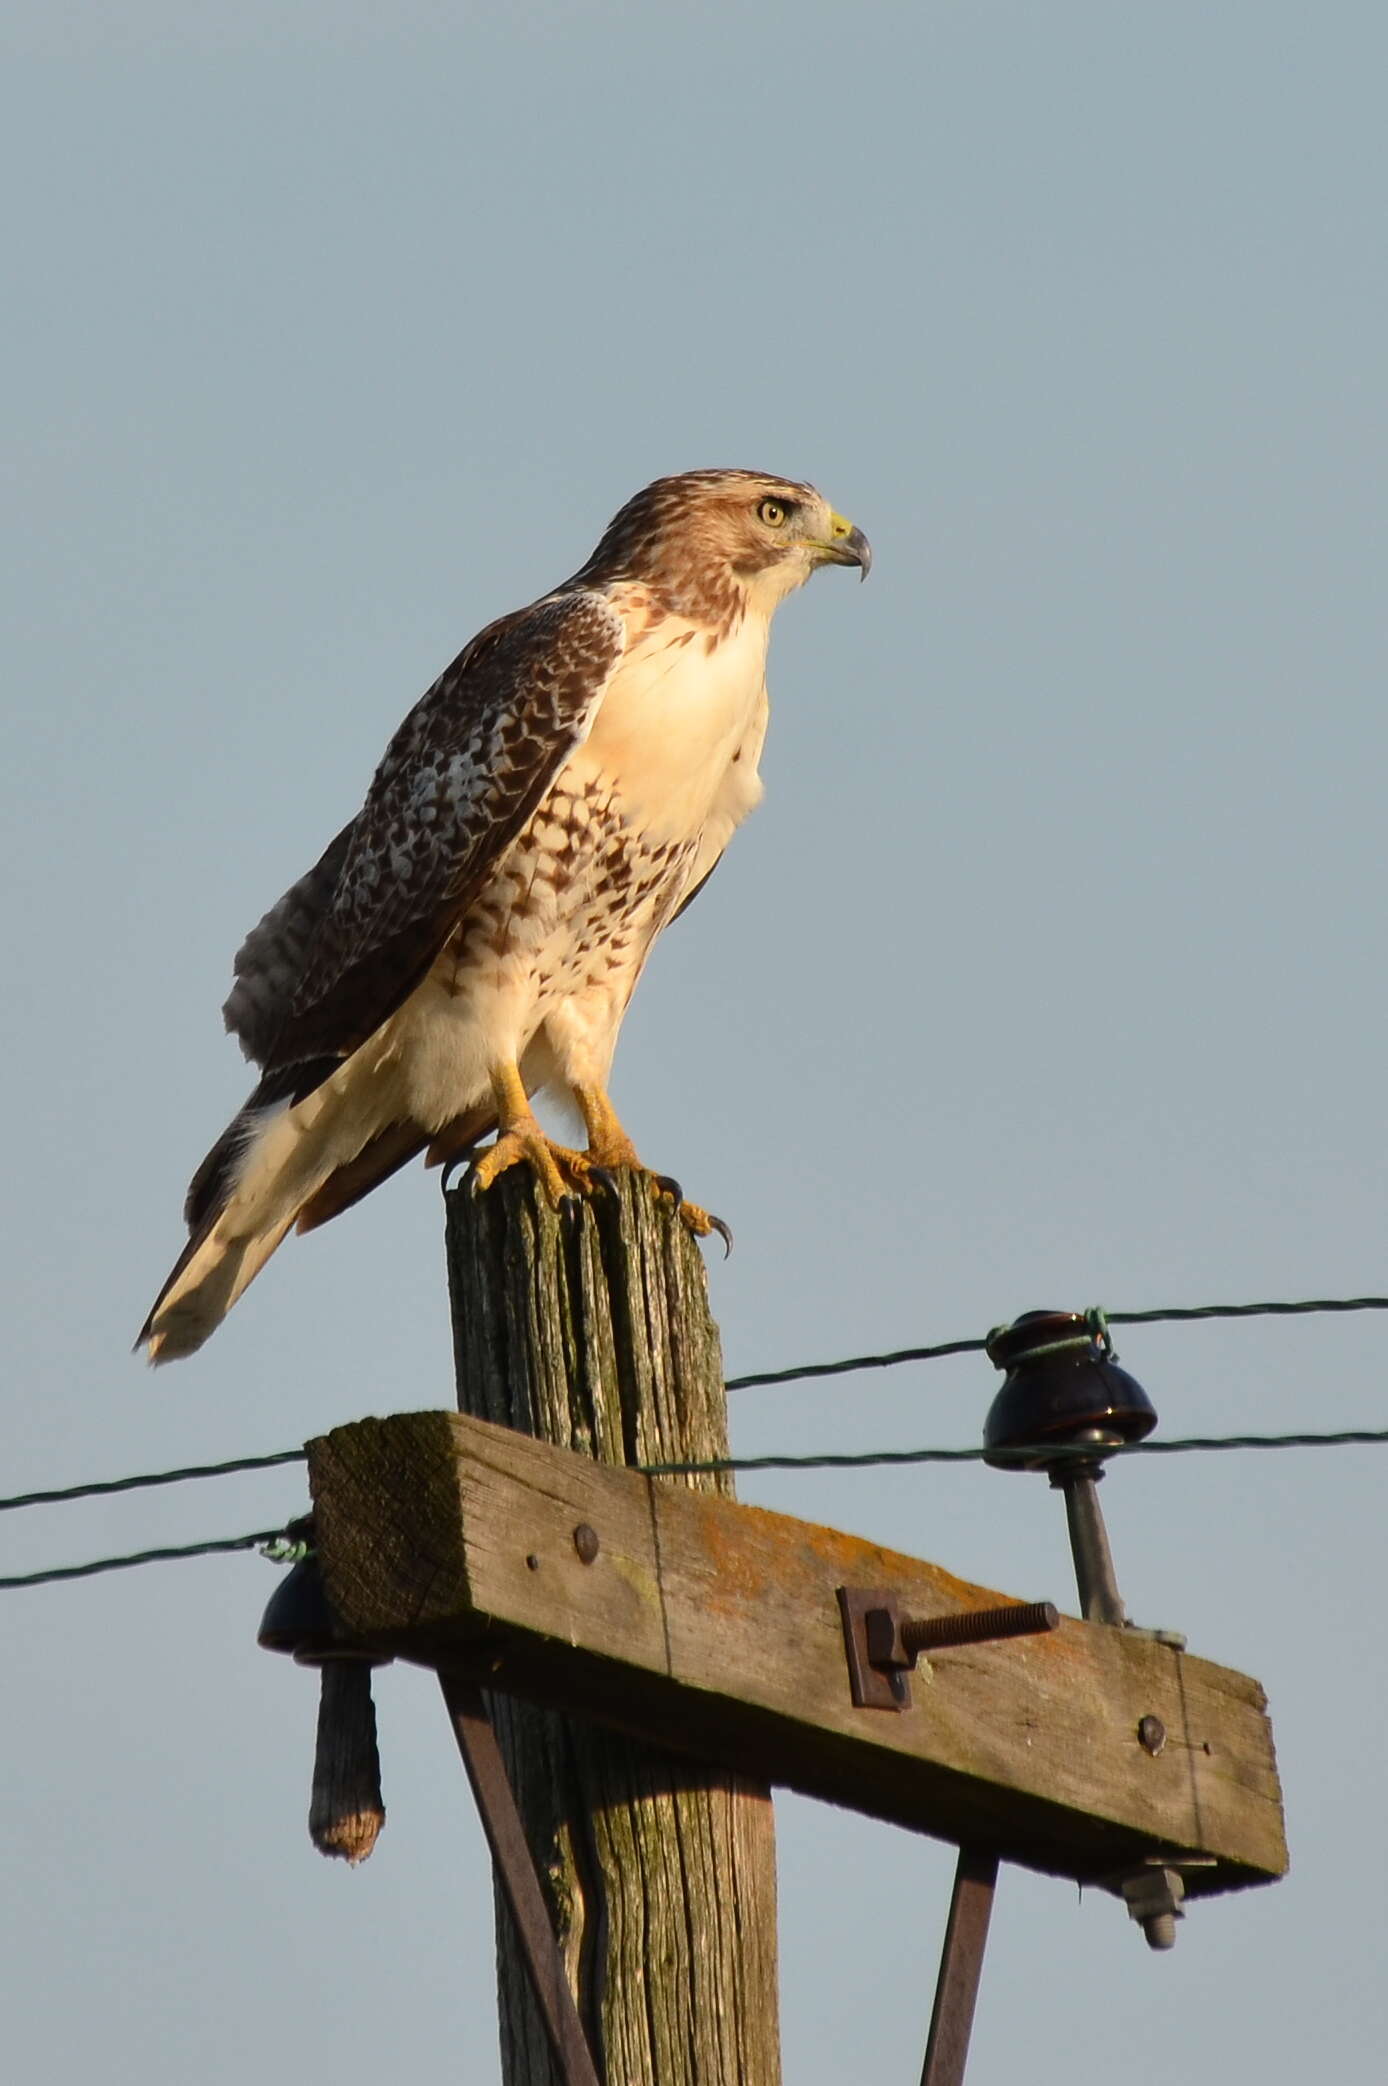
[[[449,1285],[459,1410],[607,1464],[726,1456],[703,1260],[649,1183],[626,1174],[559,1216],[522,1170],[484,1195],[463,1185]],[[536,1583],[545,1571],[536,1554]],[[766,1784],[509,1694],[488,1708],[607,2086],[776,2086]],[[497,1957],[503,2082],[551,2086],[501,1896]]]

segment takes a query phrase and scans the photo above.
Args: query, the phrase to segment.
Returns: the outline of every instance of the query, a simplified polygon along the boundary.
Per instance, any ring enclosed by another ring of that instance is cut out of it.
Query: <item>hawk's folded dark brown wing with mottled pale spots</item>
[[[346,1056],[409,997],[587,736],[620,651],[622,624],[601,595],[551,595],[482,630],[415,703],[361,814],[238,957],[228,1010],[269,1070]],[[319,870],[338,847],[324,891]],[[276,966],[273,987],[261,985]]]

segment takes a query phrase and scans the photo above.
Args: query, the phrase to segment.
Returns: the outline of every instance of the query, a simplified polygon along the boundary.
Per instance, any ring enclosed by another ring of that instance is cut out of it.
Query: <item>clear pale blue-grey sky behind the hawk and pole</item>
[[[1388,1287],[1382,6],[15,0],[0,46],[2,1489],[451,1402],[420,1172],[196,1360],[127,1350],[246,1085],[242,932],[472,630],[666,469],[812,478],[877,549],[783,611],[766,805],[618,1058],[643,1149],[737,1229],[731,1371]],[[1382,1339],[1123,1358],[1167,1431],[1378,1425]],[[733,1433],[971,1441],[991,1389],[756,1391]],[[1269,1688],[1294,1869],[1165,1959],[1004,1873],[971,2086],[1378,2069],[1386,1477],[1108,1481],[1138,1619]],[[743,1498],[1073,1606],[1035,1481]],[[13,1514],[0,1569],[301,1504],[276,1473]],[[273,1583],[2,1598],[8,2078],[497,2078],[436,1694],[382,1675],[390,1823],[321,1863]],[[912,2078],[950,1852],[787,1800],[781,1859],[787,2080]]]

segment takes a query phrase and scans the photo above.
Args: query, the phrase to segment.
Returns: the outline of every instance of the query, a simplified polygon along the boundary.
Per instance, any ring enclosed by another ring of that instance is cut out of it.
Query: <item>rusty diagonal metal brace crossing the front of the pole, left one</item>
[[[493,1852],[501,1894],[516,1921],[526,1971],[530,1973],[530,1988],[541,2009],[559,2078],[564,2086],[601,2086],[589,2038],[578,2019],[574,1994],[564,1975],[564,1955],[549,1921],[545,1892],[534,1871],[534,1857],[520,1823],[516,1794],[505,1771],[505,1761],[501,1758],[497,1733],[486,1715],[482,1690],[457,1669],[442,1669],[438,1681],[449,1717],[453,1719],[453,1736],[468,1769],[482,1832]]]

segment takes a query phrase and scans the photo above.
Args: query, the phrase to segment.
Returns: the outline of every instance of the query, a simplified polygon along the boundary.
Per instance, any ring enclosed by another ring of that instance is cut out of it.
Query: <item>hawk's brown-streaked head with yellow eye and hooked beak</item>
[[[589,586],[643,580],[668,609],[726,624],[770,615],[816,565],[858,565],[862,530],[793,478],[764,471],[683,471],[637,492],[578,574]]]

